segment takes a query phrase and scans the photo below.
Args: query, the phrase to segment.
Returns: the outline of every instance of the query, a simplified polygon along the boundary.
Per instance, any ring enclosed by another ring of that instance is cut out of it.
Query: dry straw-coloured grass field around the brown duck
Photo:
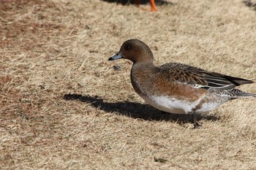
[[[256,98],[227,102],[194,129],[189,115],[162,113],[135,93],[130,61],[108,61],[136,38],[156,65],[256,81],[255,6],[167,0],[157,1],[159,12],[140,8],[0,1],[0,169],[256,169]],[[256,83],[239,88],[256,93]]]

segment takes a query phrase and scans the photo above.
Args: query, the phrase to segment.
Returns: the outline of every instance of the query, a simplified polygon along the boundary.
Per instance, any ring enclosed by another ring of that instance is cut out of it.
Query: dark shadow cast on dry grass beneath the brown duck
[[[65,100],[78,100],[91,104],[92,107],[102,109],[105,112],[110,112],[118,115],[125,115],[133,118],[140,118],[143,120],[166,120],[173,121],[179,124],[192,123],[191,115],[184,114],[170,114],[167,112],[161,112],[148,104],[139,104],[131,101],[118,101],[110,103],[104,101],[99,96],[82,96],[80,94],[65,94]],[[219,117],[206,115],[198,116],[198,120],[219,120]]]

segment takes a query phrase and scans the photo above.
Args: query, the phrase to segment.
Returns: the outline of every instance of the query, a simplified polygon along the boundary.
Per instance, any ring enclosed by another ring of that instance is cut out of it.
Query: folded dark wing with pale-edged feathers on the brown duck
[[[208,72],[181,63],[166,63],[159,66],[159,72],[162,72],[168,81],[184,83],[194,88],[204,88],[209,91],[227,90],[238,85],[253,83],[252,80]]]

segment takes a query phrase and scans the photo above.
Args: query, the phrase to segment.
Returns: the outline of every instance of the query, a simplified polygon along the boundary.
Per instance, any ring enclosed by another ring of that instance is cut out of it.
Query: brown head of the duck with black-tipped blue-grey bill
[[[129,39],[121,45],[119,52],[113,55],[108,60],[113,61],[120,58],[125,58],[133,63],[148,63],[153,62],[153,53],[148,45],[138,39]]]

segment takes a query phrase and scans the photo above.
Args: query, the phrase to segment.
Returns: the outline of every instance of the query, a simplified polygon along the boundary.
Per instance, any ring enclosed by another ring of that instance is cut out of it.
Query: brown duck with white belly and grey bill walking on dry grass
[[[132,61],[132,87],[146,103],[163,112],[192,115],[194,128],[201,126],[197,122],[198,115],[236,98],[256,96],[236,88],[253,83],[252,80],[208,72],[183,63],[155,66],[151,49],[139,39],[124,42],[108,61],[121,58]]]

